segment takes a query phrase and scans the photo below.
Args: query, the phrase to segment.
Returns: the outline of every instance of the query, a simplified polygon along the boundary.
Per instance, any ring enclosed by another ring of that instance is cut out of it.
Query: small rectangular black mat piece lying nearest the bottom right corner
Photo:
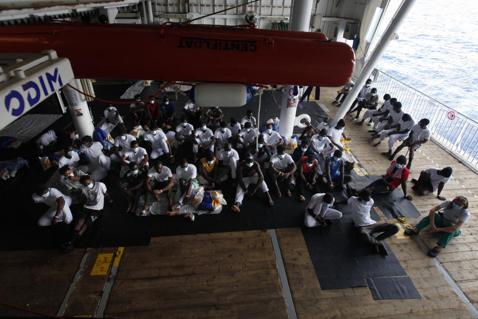
[[[422,298],[410,277],[367,278],[367,283],[375,300]]]

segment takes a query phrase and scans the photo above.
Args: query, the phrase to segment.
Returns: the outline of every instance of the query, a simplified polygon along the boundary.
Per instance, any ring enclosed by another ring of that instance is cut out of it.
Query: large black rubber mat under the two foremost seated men
[[[334,207],[335,208],[335,207]],[[367,286],[365,278],[406,276],[386,242],[388,256],[381,256],[359,238],[348,205],[337,205],[343,217],[328,227],[302,227],[307,249],[323,290]],[[380,220],[373,209],[370,217]],[[378,235],[378,234],[377,234]]]

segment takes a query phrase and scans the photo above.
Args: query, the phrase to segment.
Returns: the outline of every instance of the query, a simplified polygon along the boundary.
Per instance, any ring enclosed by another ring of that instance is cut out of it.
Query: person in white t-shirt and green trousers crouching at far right
[[[440,213],[439,210],[443,210],[443,212]],[[453,200],[442,201],[433,207],[427,217],[412,229],[405,230],[405,234],[418,235],[420,230],[430,225],[431,234],[440,233],[442,235],[437,246],[428,251],[428,256],[437,257],[453,237],[460,236],[462,227],[468,219],[470,219],[468,199],[465,196],[457,196]]]

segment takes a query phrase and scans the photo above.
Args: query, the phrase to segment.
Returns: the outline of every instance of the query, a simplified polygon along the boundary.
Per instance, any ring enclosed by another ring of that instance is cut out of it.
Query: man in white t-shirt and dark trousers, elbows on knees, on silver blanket
[[[173,174],[171,169],[167,166],[163,166],[163,162],[156,160],[154,167],[149,169],[146,179],[144,181],[144,187],[146,196],[144,198],[144,209],[141,212],[141,216],[145,216],[149,211],[149,203],[151,199],[159,200],[159,194],[166,193],[169,201],[169,207],[172,205],[172,190],[174,185]],[[170,209],[169,209],[170,210]]]

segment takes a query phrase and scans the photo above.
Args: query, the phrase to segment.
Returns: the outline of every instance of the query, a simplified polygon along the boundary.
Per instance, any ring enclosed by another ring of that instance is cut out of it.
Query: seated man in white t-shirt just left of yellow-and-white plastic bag
[[[179,214],[178,206],[186,204],[190,197],[194,197],[196,194],[196,187],[199,182],[196,177],[197,168],[195,165],[188,163],[188,160],[182,158],[179,162],[179,166],[176,168],[176,176],[179,179],[179,188],[175,196],[175,204],[171,207],[171,211],[168,211],[168,215]]]

